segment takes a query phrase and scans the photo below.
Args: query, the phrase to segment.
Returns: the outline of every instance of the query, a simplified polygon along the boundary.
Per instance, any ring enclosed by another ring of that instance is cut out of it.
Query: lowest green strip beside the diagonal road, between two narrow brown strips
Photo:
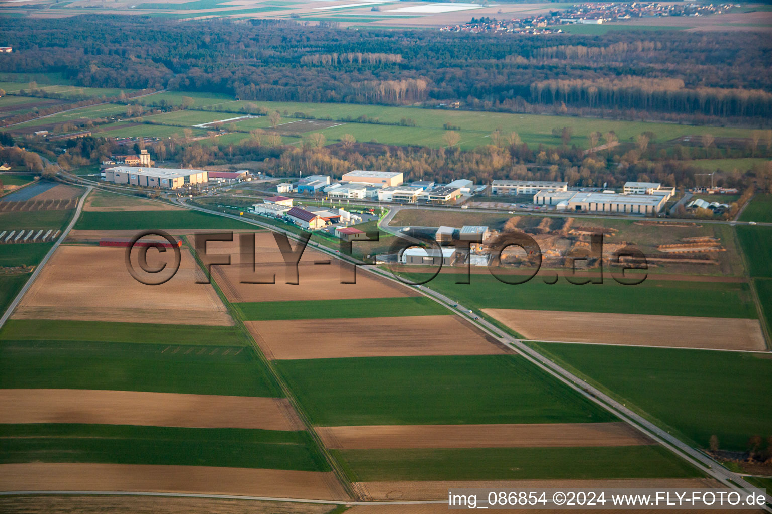
[[[351,482],[702,476],[662,446],[332,450]]]

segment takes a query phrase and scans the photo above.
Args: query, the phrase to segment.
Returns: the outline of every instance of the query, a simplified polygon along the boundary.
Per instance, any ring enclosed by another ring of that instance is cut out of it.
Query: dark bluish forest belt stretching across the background
[[[769,126],[772,43],[753,32],[488,35],[292,20],[3,18],[0,73],[240,99]]]

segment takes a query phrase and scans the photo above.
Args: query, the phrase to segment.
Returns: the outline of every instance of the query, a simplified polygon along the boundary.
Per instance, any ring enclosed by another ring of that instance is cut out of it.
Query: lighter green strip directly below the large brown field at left
[[[8,320],[0,340],[110,341],[179,345],[249,346],[250,341],[233,327],[110,321]]]

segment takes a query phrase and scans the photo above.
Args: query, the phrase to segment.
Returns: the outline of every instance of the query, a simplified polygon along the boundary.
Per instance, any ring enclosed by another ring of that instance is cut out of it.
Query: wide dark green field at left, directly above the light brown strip
[[[252,348],[0,341],[0,388],[280,396]]]

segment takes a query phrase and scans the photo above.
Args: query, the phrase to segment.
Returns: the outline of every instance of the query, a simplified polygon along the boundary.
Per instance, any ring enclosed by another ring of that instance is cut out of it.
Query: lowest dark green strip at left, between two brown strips
[[[0,425],[0,462],[104,462],[327,471],[306,432],[39,423]]]

